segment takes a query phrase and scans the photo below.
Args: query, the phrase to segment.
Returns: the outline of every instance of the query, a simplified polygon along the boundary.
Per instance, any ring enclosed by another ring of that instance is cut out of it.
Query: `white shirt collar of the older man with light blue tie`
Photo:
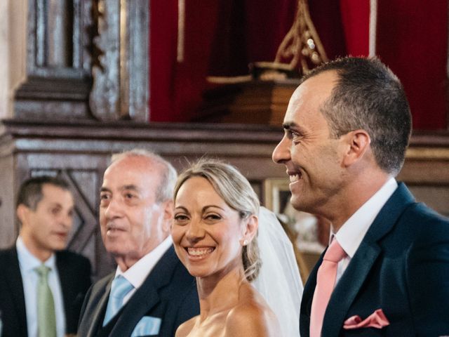
[[[128,270],[126,270],[126,272],[122,272],[120,267],[117,266],[115,277],[122,275],[130,282],[130,284],[133,284],[134,289],[138,289],[149,275],[149,272],[153,270],[156,263],[158,263],[159,259],[166,253],[172,244],[173,241],[171,236],[168,235],[159,246],[156,246],[155,249],[143,256],[138,262],[134,263]]]

